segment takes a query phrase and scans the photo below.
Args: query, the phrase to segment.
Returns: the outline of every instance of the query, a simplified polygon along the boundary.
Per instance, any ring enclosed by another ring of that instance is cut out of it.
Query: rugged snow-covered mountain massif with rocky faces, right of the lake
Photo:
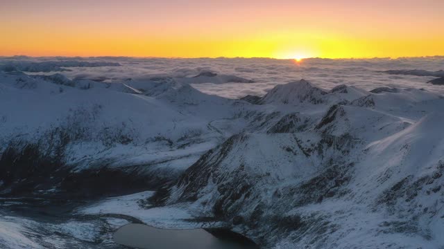
[[[444,100],[340,89],[275,87],[257,103],[293,113],[232,136],[152,200],[267,248],[441,248]]]

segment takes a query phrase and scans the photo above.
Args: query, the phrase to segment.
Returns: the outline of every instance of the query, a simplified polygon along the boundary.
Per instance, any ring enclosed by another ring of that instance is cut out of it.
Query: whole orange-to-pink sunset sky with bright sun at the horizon
[[[0,0],[0,55],[444,55],[444,0]]]

